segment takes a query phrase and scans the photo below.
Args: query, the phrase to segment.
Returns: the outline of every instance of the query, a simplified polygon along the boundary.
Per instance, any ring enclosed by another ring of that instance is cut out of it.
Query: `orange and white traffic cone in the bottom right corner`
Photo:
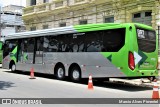
[[[159,99],[159,86],[157,80],[154,80],[152,99]]]

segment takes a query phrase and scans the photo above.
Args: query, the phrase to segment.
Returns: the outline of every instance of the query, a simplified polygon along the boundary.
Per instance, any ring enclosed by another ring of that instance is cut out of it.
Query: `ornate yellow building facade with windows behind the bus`
[[[157,29],[159,0],[27,0],[27,30],[89,23],[139,22]]]

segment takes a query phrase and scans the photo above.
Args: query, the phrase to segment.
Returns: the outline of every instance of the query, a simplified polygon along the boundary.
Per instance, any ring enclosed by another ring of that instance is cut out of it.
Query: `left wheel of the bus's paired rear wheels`
[[[58,66],[57,67],[57,69],[56,69],[56,77],[59,80],[64,79],[64,77],[65,77],[65,70],[64,70],[63,66]]]

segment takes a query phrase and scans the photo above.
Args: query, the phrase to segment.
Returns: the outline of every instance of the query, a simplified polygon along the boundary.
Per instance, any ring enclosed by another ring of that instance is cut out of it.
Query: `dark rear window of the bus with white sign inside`
[[[137,28],[137,41],[143,52],[154,52],[156,49],[156,33],[153,30]]]

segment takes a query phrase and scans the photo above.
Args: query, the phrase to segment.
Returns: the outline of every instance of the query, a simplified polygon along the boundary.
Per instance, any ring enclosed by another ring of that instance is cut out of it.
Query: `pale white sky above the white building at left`
[[[19,5],[19,6],[26,6],[26,0],[0,0],[1,6],[6,5]]]

